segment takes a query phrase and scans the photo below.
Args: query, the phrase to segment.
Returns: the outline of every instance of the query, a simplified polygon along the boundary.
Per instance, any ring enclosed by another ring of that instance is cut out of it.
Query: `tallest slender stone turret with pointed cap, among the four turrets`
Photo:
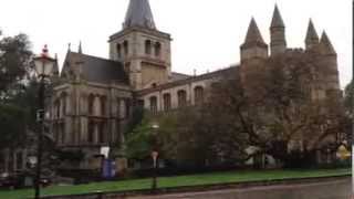
[[[273,19],[270,25],[271,55],[284,53],[287,50],[285,25],[275,4]]]

